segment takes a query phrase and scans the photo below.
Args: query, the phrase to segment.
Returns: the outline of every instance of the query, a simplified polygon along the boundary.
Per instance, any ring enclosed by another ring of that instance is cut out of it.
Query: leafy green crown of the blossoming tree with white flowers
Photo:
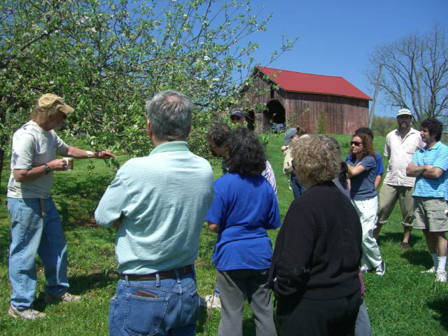
[[[166,89],[194,102],[190,148],[239,90],[270,14],[246,1],[5,0],[0,2],[0,164],[13,130],[45,92],[75,108],[66,136],[94,149],[147,155],[145,101]],[[279,52],[293,48],[282,36]]]

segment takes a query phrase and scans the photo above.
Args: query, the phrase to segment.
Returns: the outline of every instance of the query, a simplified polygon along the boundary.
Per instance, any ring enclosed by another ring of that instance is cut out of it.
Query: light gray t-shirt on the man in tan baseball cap
[[[65,153],[68,146],[57,137],[55,131],[45,131],[30,120],[15,131],[11,153],[11,174],[7,196],[11,198],[48,198],[53,183],[50,171],[38,179],[27,182],[15,181],[14,169],[31,169],[55,160],[56,155]]]

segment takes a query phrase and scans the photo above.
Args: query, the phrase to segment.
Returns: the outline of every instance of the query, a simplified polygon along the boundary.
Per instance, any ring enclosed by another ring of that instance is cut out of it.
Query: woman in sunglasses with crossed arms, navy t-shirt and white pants
[[[347,161],[351,183],[350,196],[363,227],[361,271],[370,272],[375,269],[377,275],[383,276],[386,265],[373,237],[378,211],[375,151],[370,137],[362,133],[353,135],[350,145],[350,160]]]

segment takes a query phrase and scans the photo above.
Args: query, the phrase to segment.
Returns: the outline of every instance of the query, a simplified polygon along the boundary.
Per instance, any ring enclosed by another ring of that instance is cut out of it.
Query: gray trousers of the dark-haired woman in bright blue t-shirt
[[[218,271],[221,321],[218,336],[243,335],[243,306],[247,298],[255,318],[257,336],[275,336],[271,290],[267,288],[269,269]]]

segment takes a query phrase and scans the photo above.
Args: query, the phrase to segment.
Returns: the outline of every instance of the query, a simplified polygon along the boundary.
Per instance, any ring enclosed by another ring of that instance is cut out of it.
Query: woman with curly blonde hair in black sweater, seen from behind
[[[331,181],[341,160],[336,144],[309,137],[293,147],[295,174],[307,191],[288,209],[270,269],[280,335],[354,334],[362,230]]]

